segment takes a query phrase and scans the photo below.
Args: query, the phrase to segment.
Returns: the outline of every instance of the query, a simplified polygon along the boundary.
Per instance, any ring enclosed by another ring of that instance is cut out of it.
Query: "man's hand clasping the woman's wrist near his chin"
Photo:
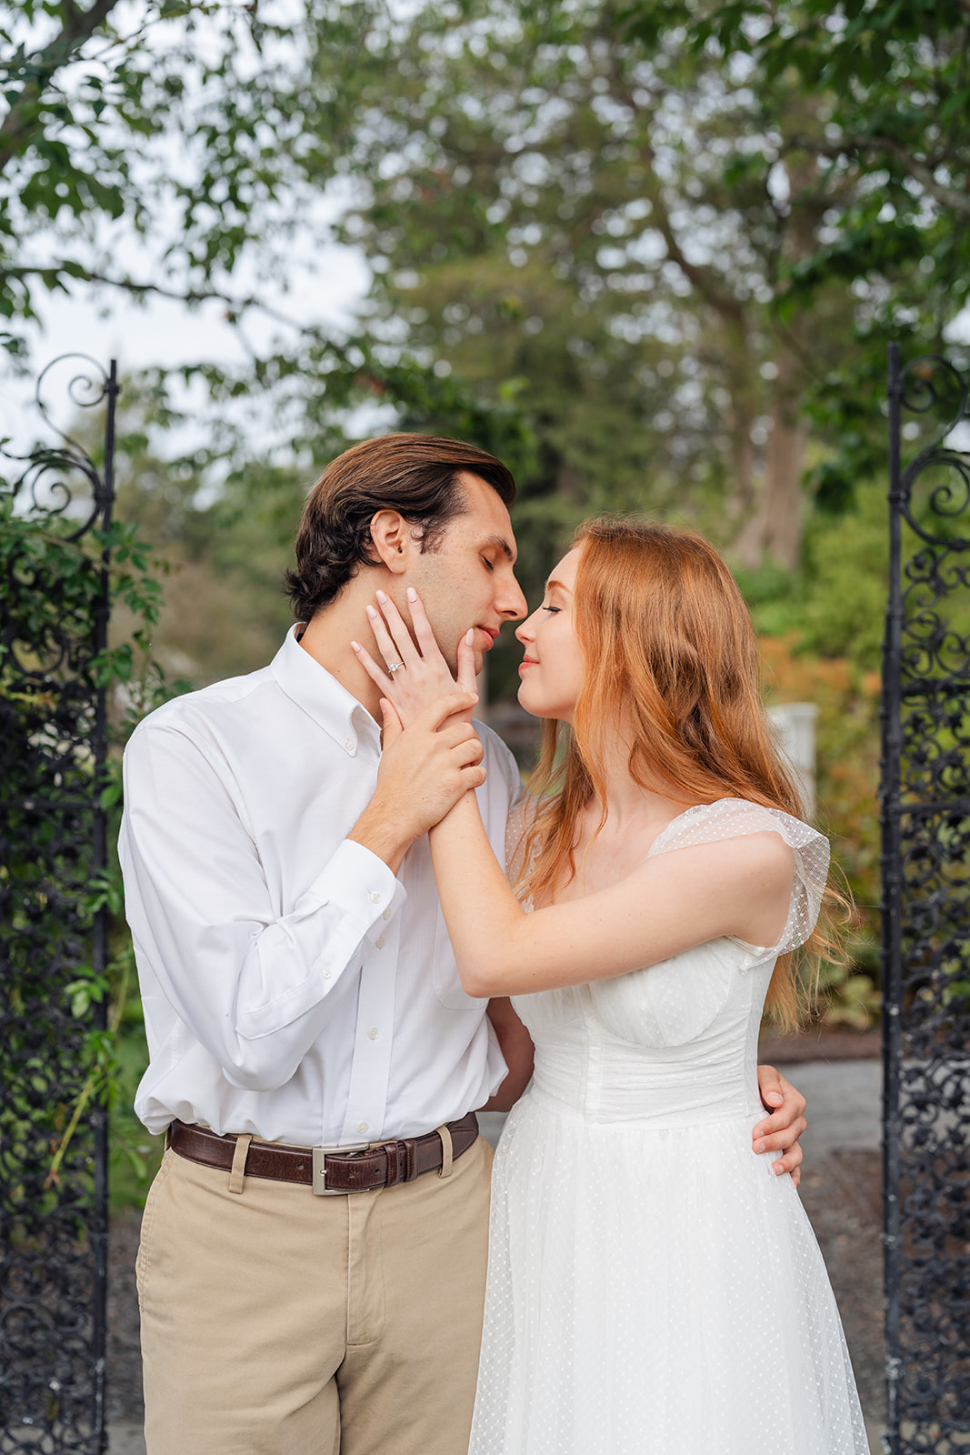
[[[414,840],[486,780],[474,728],[454,717],[477,700],[474,693],[439,697],[404,730],[391,704],[381,698],[384,751],[377,787],[348,838],[369,848],[393,873]]]

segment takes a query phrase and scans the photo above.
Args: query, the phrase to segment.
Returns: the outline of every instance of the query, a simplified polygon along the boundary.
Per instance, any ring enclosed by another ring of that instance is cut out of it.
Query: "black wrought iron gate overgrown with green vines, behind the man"
[[[49,418],[55,365],[36,400],[58,442],[7,455],[16,467],[0,479],[0,1452],[99,1455],[108,1128],[86,1051],[105,1005],[74,1016],[68,986],[108,959],[106,912],[92,915],[90,898],[106,867],[99,533],[118,384],[113,364],[105,374],[84,358],[68,386],[74,404],[105,406],[99,470]]]

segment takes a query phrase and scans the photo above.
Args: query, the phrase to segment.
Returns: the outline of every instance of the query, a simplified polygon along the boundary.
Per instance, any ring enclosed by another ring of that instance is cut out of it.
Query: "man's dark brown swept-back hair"
[[[467,509],[460,474],[477,474],[505,505],[515,501],[512,471],[476,445],[442,435],[384,435],[345,450],[323,471],[297,533],[297,569],[286,594],[298,621],[336,599],[361,566],[380,566],[371,541],[378,511],[400,511],[436,550],[445,527]]]

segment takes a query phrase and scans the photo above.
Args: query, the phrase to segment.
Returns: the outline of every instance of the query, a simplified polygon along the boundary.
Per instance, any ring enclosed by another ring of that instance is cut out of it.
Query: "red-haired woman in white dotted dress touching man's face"
[[[430,834],[465,989],[513,995],[537,1051],[494,1165],[471,1452],[864,1455],[819,1248],[750,1152],[762,1005],[794,1017],[829,850],[740,594],[698,535],[593,521],[516,634],[545,719],[519,898],[474,794]]]

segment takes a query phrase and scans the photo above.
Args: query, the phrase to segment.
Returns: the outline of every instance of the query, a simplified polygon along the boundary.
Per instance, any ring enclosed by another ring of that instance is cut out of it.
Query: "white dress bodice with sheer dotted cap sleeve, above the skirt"
[[[765,831],[781,834],[794,858],[778,944],[717,938],[628,975],[515,997],[535,1042],[534,1096],[589,1120],[656,1128],[759,1113],[755,1065],[768,984],[778,956],[814,927],[829,845],[788,813],[721,799],[681,813],[650,848],[673,853]]]

